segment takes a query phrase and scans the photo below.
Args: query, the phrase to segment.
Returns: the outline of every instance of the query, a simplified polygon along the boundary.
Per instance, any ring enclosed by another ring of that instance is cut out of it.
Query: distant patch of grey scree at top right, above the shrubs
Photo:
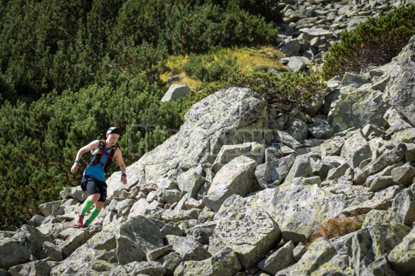
[[[318,70],[322,53],[340,40],[345,30],[356,28],[368,17],[379,16],[398,6],[415,4],[414,0],[351,0],[351,1],[280,1],[284,14],[278,33],[279,48],[286,58],[281,60],[290,70],[307,66]]]

